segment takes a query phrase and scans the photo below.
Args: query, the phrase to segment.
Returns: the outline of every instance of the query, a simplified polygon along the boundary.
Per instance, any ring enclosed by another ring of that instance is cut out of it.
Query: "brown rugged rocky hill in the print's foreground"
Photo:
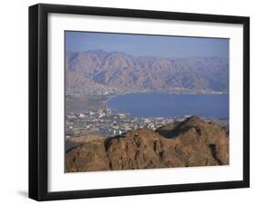
[[[66,153],[66,171],[107,171],[229,164],[229,137],[191,117],[157,131],[139,129]]]

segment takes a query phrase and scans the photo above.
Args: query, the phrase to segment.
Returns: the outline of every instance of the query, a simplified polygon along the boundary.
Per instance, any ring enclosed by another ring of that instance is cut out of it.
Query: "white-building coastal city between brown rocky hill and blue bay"
[[[111,137],[139,128],[156,130],[169,122],[181,122],[186,117],[189,116],[138,118],[109,108],[96,112],[69,112],[66,115],[66,138],[86,136],[89,133]]]

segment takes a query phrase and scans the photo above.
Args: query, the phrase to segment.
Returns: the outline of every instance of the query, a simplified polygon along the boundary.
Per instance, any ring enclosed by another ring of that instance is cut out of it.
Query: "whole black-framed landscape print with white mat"
[[[250,19],[29,7],[29,197],[250,186]]]

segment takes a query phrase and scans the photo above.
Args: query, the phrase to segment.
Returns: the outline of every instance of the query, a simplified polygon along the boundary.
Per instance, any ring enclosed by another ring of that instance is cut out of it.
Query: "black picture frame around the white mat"
[[[243,180],[101,190],[47,190],[47,16],[50,13],[102,15],[243,25]],[[67,200],[192,190],[250,187],[250,18],[76,5],[29,7],[29,198]]]

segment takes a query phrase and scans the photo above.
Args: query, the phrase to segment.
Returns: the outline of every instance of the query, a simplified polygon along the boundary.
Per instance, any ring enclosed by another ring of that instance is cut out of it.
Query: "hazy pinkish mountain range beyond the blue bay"
[[[68,93],[227,93],[229,59],[136,57],[101,50],[66,54]]]

